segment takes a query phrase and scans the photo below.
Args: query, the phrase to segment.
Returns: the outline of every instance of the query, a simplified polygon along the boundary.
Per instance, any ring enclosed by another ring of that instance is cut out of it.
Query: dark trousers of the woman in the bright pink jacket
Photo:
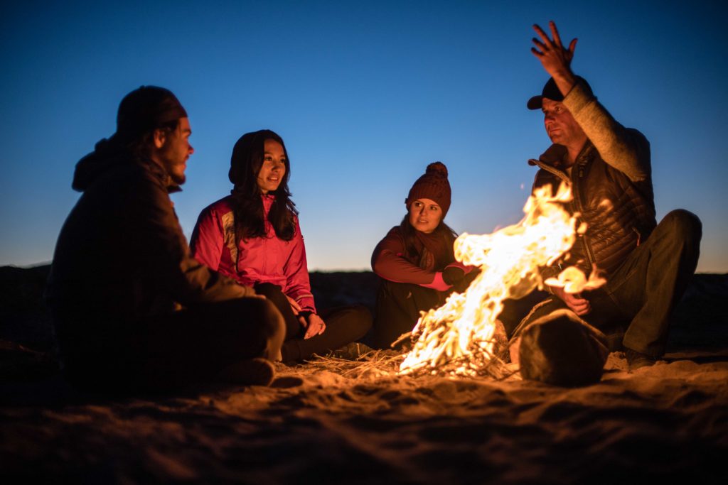
[[[281,292],[280,286],[271,283],[256,284],[256,293],[276,305],[285,320],[285,342],[281,353],[286,363],[320,356],[341,348],[349,342],[360,340],[371,328],[371,313],[363,305],[343,306],[321,310],[319,316],[326,324],[323,334],[304,339],[306,329],[293,314],[290,302]]]

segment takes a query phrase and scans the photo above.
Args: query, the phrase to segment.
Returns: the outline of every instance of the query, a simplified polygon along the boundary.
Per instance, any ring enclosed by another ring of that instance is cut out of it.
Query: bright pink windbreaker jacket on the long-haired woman
[[[279,239],[268,222],[268,212],[275,197],[266,195],[262,198],[266,237],[235,244],[232,196],[227,196],[206,207],[199,215],[190,241],[192,256],[246,286],[256,283],[277,284],[283,293],[301,305],[301,310],[315,313],[306,265],[306,248],[298,217],[293,239]]]

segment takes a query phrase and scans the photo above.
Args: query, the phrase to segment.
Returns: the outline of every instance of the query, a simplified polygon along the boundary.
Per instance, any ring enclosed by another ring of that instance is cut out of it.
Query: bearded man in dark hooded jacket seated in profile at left
[[[119,105],[116,133],[76,164],[82,196],[58,236],[46,292],[74,385],[127,392],[272,380],[280,313],[194,260],[175,215],[169,193],[185,182],[190,135],[177,97],[142,86]]]

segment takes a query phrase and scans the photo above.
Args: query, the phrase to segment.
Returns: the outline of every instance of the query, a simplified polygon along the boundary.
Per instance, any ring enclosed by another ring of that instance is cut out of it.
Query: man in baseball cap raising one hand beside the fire
[[[577,39],[563,47],[553,22],[551,37],[538,25],[534,30],[539,38],[531,52],[551,78],[527,106],[542,111],[553,142],[529,160],[539,167],[534,188],[551,185],[555,193],[568,184],[574,199],[567,209],[587,225],[542,276],[574,265],[587,275],[597,270],[606,284],[580,294],[548,287],[550,297],[521,321],[514,339],[538,318],[568,308],[604,332],[609,350],[624,350],[631,369],[652,365],[665,352],[670,313],[697,265],[700,220],[678,209],[656,224],[646,137],[619,124],[587,81],[571,71]],[[528,353],[521,347],[522,361]]]

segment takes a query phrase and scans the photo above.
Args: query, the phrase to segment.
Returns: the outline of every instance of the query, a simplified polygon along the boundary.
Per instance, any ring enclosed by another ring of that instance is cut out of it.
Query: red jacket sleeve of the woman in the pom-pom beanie
[[[371,268],[381,278],[394,283],[419,284],[441,292],[450,287],[443,281],[443,273],[424,270],[408,261],[404,254],[405,242],[400,228],[395,226],[374,248]]]

